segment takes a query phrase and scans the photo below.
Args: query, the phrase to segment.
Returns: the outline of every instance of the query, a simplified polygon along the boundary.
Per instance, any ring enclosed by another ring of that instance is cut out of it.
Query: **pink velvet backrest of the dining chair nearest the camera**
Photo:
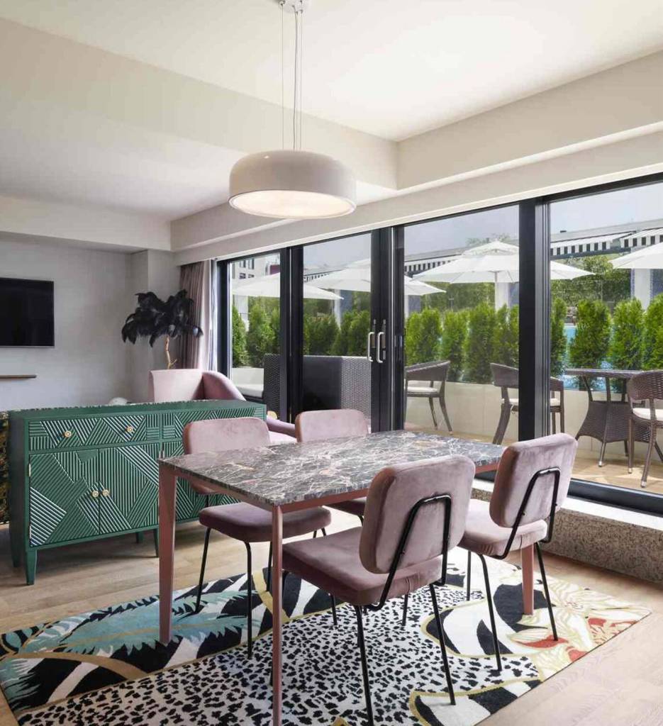
[[[388,466],[371,482],[366,501],[359,557],[370,572],[389,572],[412,507],[420,499],[448,494],[451,499],[447,550],[465,531],[474,464],[464,456],[447,456]],[[444,519],[448,502],[423,505],[412,522],[398,567],[444,555]]]

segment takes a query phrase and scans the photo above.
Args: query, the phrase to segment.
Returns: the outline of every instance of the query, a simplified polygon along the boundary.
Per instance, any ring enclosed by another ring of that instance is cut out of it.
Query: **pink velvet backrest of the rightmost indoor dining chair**
[[[490,497],[492,520],[501,527],[513,527],[534,475],[554,467],[560,470],[556,508],[561,507],[569,492],[577,448],[578,442],[568,433],[518,441],[508,446],[497,467],[495,486]],[[554,482],[552,473],[537,478],[519,524],[529,524],[550,516]]]

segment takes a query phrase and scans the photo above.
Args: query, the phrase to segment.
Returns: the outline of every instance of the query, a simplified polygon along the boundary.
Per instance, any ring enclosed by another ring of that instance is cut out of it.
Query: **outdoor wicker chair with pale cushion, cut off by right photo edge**
[[[663,400],[663,370],[648,370],[634,375],[627,384],[626,391],[631,407],[628,420],[628,473],[633,473],[633,429],[639,425],[648,425],[648,443],[645,465],[640,479],[640,486],[647,486],[647,475],[651,464],[651,454],[656,453],[663,460],[663,454],[656,442],[656,433],[663,428],[663,408],[656,408],[656,401]]]

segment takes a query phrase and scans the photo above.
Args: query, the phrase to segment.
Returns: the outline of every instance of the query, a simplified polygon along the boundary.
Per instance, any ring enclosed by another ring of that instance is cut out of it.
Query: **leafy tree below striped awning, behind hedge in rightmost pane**
[[[576,280],[553,280],[553,297],[562,298],[567,305],[577,306],[583,300],[601,300],[611,306],[631,296],[630,270],[615,269],[610,260],[614,255],[596,255],[566,260],[592,274]]]

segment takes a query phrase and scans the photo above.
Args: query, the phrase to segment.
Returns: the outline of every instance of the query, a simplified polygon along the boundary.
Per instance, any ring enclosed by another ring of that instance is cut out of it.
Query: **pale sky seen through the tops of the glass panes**
[[[550,205],[550,229],[572,232],[613,224],[663,219],[663,184],[620,189]],[[662,225],[663,226],[663,225]],[[518,238],[518,206],[421,222],[405,228],[405,254],[463,247],[472,238],[507,234]],[[370,257],[370,234],[304,248],[304,267],[338,267]]]

